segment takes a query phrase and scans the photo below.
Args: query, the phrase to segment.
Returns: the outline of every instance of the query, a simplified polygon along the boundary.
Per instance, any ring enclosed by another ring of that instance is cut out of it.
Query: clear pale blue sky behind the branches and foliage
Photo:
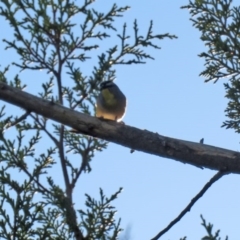
[[[107,11],[114,2],[98,0],[92,7]],[[137,19],[140,32],[145,34],[150,20],[153,20],[154,33],[168,32],[178,36],[175,40],[162,40],[161,50],[148,49],[154,61],[116,68],[116,83],[128,99],[125,124],[194,142],[204,137],[206,144],[239,151],[239,135],[233,130],[221,128],[226,120],[224,110],[227,99],[223,87],[226,80],[213,84],[204,83],[204,79],[199,77],[204,70],[204,61],[197,55],[205,47],[199,38],[200,33],[189,20],[188,10],[180,9],[188,1],[122,0],[120,4],[118,6],[131,6],[114,24],[120,32],[126,22],[128,33],[132,34],[133,21]],[[2,18],[0,21],[4,23]],[[9,27],[5,34],[11,34]],[[116,34],[113,33],[113,36]],[[113,40],[110,43],[116,44]],[[2,52],[3,45],[0,46],[1,54],[6,55],[4,63],[13,61],[14,52],[6,54]],[[109,45],[103,44],[104,47]],[[102,49],[97,50],[96,54],[101,52]],[[81,69],[87,74],[91,73],[92,67],[85,64]],[[28,76],[34,79],[26,81],[29,84],[26,91],[39,92],[34,86],[37,78],[42,77],[41,73],[32,72]],[[114,205],[118,209],[116,218],[122,218],[122,227],[131,228],[131,240],[154,237],[179,215],[216,173],[142,152],[131,154],[130,149],[113,143],[104,152],[96,154],[91,166],[92,172],[81,176],[75,189],[76,205],[82,206],[85,202],[84,193],[98,198],[100,187],[107,196],[123,187],[124,191]],[[222,239],[226,235],[229,239],[238,239],[239,186],[238,175],[231,174],[220,179],[161,239],[177,240],[184,236],[201,239],[206,232],[200,224],[200,214],[214,224],[214,232],[221,230]]]

